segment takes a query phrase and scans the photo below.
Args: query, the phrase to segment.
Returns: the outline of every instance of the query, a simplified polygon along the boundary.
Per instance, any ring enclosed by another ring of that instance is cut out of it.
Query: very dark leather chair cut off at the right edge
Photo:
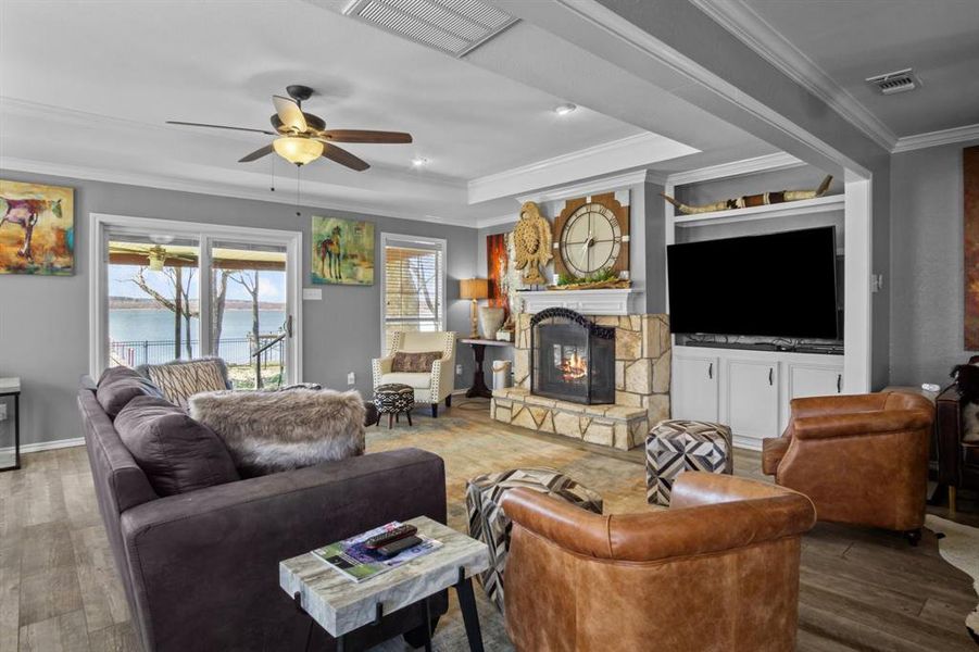
[[[969,359],[979,365],[979,355]],[[965,441],[964,409],[969,400],[953,383],[936,399],[938,481],[949,488],[949,510],[955,512],[956,489],[979,490],[979,442]]]

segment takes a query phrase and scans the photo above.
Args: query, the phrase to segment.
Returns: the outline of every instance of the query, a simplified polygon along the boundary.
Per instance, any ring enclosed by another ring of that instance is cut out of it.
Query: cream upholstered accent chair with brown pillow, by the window
[[[374,387],[390,383],[407,385],[415,390],[415,404],[429,403],[431,416],[438,416],[441,401],[445,401],[447,408],[452,405],[452,391],[455,389],[455,337],[453,331],[390,334],[386,355],[374,360]],[[440,351],[442,356],[432,363],[430,372],[391,369],[398,352],[431,351]]]

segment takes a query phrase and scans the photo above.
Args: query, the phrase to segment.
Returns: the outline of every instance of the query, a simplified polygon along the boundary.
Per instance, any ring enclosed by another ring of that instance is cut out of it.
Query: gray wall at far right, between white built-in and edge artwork
[[[945,385],[967,362],[963,337],[962,150],[979,140],[891,160],[891,383]]]

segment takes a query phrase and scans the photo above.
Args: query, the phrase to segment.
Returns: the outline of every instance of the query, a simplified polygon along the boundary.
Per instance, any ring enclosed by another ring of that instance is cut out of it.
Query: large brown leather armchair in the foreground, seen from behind
[[[518,652],[795,649],[812,501],[687,472],[670,509],[599,515],[514,489],[506,632]]]

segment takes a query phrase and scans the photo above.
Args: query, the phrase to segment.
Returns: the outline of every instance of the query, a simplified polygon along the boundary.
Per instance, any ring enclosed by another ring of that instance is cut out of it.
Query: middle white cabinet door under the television
[[[778,436],[778,361],[725,361],[728,425],[739,437]]]

